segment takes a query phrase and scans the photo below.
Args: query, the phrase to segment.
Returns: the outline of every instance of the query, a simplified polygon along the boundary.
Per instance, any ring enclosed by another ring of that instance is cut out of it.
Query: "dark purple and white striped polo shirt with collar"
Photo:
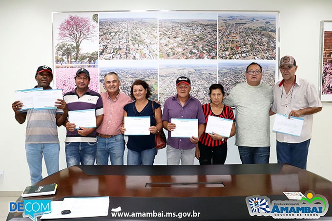
[[[81,97],[76,93],[76,88],[67,92],[63,96],[69,111],[95,109],[96,116],[104,114],[103,100],[99,93],[87,89]],[[70,132],[67,130],[65,142],[96,142],[96,130],[83,137],[77,133],[77,130]]]

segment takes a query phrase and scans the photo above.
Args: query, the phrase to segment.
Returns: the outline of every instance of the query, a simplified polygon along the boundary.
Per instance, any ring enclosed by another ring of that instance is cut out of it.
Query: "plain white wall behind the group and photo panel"
[[[4,170],[0,191],[21,191],[30,184],[24,150],[26,125],[15,121],[11,103],[15,100],[14,90],[35,85],[34,73],[38,66],[53,64],[51,12],[139,9],[280,11],[280,56],[294,56],[299,66],[297,76],[318,86],[319,23],[332,20],[331,8],[331,0],[0,0],[0,85],[3,90],[0,170]],[[308,170],[329,180],[332,180],[329,170],[332,167],[331,110],[331,103],[323,103],[323,110],[314,116],[308,159]],[[64,137],[62,127],[59,129],[60,169],[65,168]],[[227,163],[240,163],[236,146],[232,143],[234,139],[229,141]],[[166,163],[165,153],[164,149],[157,155],[157,164]],[[276,162],[273,133],[270,162]]]

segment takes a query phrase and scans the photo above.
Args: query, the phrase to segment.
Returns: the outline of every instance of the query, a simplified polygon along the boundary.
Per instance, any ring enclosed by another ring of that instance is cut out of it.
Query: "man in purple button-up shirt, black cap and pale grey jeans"
[[[194,163],[196,144],[204,132],[206,123],[202,104],[199,100],[191,97],[189,92],[191,81],[187,77],[179,77],[176,80],[177,94],[168,98],[164,104],[163,127],[168,131],[167,139],[167,165],[191,165]],[[198,119],[198,138],[172,138],[171,131],[176,128],[171,123],[172,118]]]

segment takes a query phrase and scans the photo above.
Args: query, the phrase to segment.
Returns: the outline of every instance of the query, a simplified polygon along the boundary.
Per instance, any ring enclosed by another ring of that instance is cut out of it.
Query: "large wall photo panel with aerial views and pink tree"
[[[207,103],[212,83],[229,92],[252,61],[274,85],[278,30],[277,11],[54,12],[56,87],[73,90],[76,71],[86,68],[90,89],[104,92],[104,75],[116,72],[125,94],[134,80],[146,80],[151,99],[164,103],[176,94],[176,78],[187,76],[190,94]]]

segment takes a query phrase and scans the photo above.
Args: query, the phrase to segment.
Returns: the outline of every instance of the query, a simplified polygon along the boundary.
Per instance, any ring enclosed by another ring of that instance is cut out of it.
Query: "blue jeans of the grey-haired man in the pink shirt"
[[[112,165],[124,165],[124,152],[124,135],[119,134],[112,138],[102,138],[97,136],[97,165],[107,165],[108,156]]]

